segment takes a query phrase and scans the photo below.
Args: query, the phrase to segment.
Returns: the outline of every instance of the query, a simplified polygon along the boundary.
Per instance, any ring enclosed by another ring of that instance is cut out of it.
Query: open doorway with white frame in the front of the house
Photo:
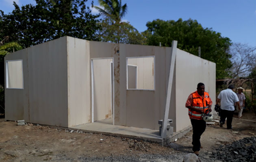
[[[113,58],[91,59],[91,121],[114,124]]]

